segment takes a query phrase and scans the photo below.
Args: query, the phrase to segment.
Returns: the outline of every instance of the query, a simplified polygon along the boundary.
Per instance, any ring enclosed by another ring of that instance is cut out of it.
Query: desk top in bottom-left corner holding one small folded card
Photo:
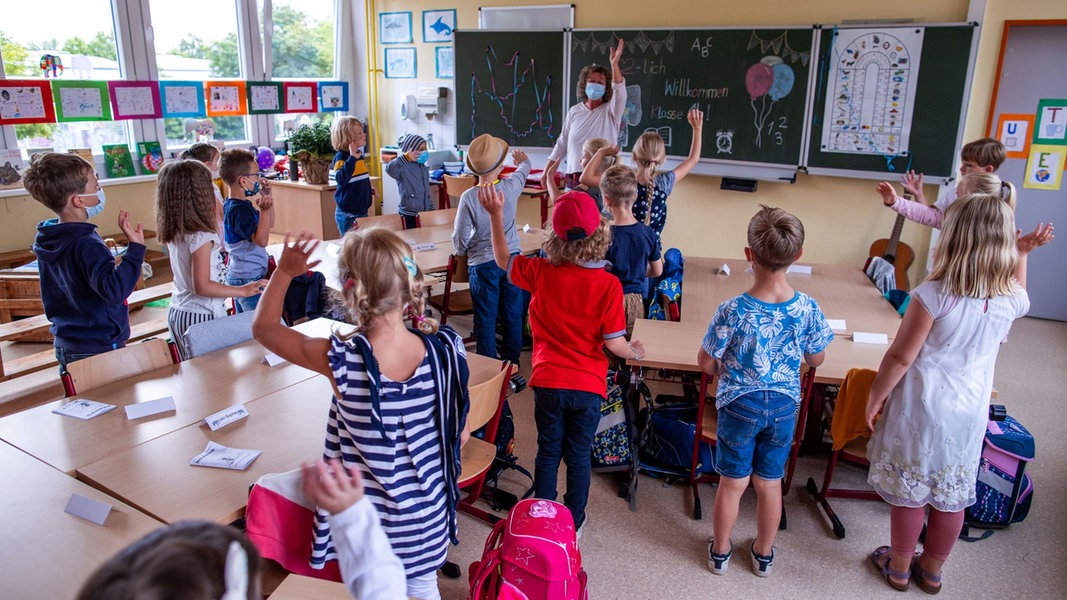
[[[0,596],[74,598],[105,560],[162,523],[0,442]],[[70,495],[112,506],[102,525],[64,511]]]

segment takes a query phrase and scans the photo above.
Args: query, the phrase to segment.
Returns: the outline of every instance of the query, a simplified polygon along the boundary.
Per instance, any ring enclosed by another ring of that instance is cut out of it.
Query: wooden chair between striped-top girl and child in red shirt
[[[492,379],[469,388],[471,410],[467,413],[467,424],[472,431],[484,426],[485,439],[480,440],[472,436],[463,445],[460,455],[459,487],[461,491],[468,493],[460,499],[458,508],[490,525],[499,521],[500,518],[478,508],[475,506],[475,502],[481,498],[482,489],[485,486],[485,475],[489,474],[489,468],[493,465],[493,459],[496,458],[494,440],[496,440],[496,429],[500,424],[500,412],[504,408],[504,399],[508,395],[512,370],[514,367],[511,363],[505,361],[500,365],[500,372]]]

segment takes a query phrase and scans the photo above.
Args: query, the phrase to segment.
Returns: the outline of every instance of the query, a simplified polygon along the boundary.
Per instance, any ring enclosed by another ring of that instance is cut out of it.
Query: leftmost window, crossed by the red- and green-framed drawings
[[[123,79],[111,0],[49,0],[47,10],[31,2],[5,5],[0,54],[12,79]],[[92,148],[96,155],[103,144],[130,139],[127,125],[113,121],[16,125],[15,136],[22,149]]]

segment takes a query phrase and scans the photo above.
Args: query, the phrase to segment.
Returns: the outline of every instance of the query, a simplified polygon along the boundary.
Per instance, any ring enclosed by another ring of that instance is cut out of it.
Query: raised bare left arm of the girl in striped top
[[[265,348],[290,363],[320,373],[333,380],[333,373],[330,370],[330,362],[327,359],[327,353],[330,351],[330,341],[308,337],[282,322],[282,304],[285,302],[285,293],[289,289],[292,278],[307,272],[309,268],[319,263],[318,260],[308,262],[319,244],[318,240],[313,239],[310,234],[303,232],[297,237],[296,242],[291,244],[289,242],[289,235],[286,234],[277,269],[274,270],[267,289],[259,298],[259,305],[256,306],[256,317],[252,321],[252,335]]]

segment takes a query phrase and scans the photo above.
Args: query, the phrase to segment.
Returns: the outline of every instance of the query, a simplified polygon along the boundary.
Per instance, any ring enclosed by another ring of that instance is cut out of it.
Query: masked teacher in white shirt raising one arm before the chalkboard
[[[619,68],[622,57],[622,38],[608,50],[611,70],[596,63],[586,65],[578,74],[578,104],[567,111],[563,128],[556,145],[548,155],[548,165],[541,175],[541,186],[546,187],[547,174],[556,167],[566,173],[566,185],[574,188],[582,175],[582,145],[591,138],[604,138],[611,143],[619,139],[622,113],[626,110],[626,82]],[[566,153],[566,155],[564,155]],[[560,162],[566,159],[564,164]]]

